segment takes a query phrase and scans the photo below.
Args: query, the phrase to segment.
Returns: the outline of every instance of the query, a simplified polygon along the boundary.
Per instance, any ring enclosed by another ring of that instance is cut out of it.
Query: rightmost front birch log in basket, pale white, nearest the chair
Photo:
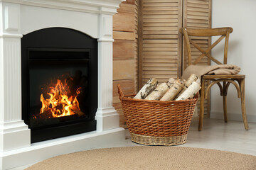
[[[190,86],[188,86],[188,89],[186,89],[186,91],[184,91],[183,94],[181,94],[181,96],[179,96],[176,99],[176,101],[193,98],[193,96],[195,96],[200,89],[201,89],[200,84],[198,84],[196,81],[193,81],[193,83]]]

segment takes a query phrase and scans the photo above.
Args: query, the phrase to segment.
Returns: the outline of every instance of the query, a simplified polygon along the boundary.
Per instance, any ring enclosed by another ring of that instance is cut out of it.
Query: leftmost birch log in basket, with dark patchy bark
[[[151,78],[149,81],[146,82],[146,84],[140,89],[138,94],[134,96],[136,99],[145,99],[146,96],[148,96],[151,91],[153,91],[156,88],[156,85],[158,84],[157,79]]]

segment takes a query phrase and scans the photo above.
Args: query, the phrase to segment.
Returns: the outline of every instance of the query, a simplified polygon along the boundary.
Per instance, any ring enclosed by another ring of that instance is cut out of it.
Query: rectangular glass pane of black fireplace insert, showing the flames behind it
[[[89,117],[87,63],[53,63],[30,67],[31,128]]]

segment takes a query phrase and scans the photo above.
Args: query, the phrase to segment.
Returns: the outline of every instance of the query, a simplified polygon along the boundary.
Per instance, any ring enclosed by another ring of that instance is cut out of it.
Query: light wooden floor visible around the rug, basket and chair
[[[256,123],[249,123],[250,130],[245,130],[242,122],[207,119],[204,120],[203,130],[198,132],[198,121],[192,121],[188,132],[186,144],[181,147],[201,147],[208,149],[218,149],[242,154],[252,154],[256,156]],[[106,147],[132,147],[142,146],[131,142],[129,131],[127,139],[122,142],[106,144],[96,148]],[[17,167],[12,170],[25,169],[30,165]]]

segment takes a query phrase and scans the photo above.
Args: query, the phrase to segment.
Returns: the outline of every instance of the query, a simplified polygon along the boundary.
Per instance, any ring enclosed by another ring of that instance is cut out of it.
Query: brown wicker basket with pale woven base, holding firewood
[[[133,142],[167,146],[186,143],[198,94],[184,101],[149,101],[124,96],[119,84],[117,88]]]

